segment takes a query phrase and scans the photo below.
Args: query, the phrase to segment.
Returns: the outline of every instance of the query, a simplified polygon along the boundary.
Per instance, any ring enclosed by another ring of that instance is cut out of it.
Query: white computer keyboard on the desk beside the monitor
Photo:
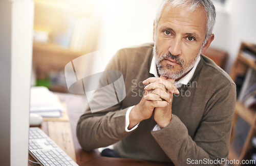
[[[38,127],[29,129],[29,154],[41,165],[78,165]]]

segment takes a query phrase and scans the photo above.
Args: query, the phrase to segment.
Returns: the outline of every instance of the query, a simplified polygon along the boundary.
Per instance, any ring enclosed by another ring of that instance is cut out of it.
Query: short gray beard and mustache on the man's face
[[[156,44],[154,44],[153,54],[156,59],[158,73],[162,76],[165,76],[167,78],[172,78],[172,79],[178,79],[178,78],[183,77],[188,71],[190,71],[194,67],[195,63],[197,62],[198,57],[200,56],[201,50],[202,50],[202,48],[200,49],[198,56],[196,56],[193,60],[189,61],[187,66],[184,67],[184,61],[182,59],[180,59],[179,56],[173,56],[170,53],[169,54],[161,54],[160,56],[158,56],[158,50],[157,50]],[[171,58],[171,59],[175,60],[176,62],[178,62],[181,66],[181,70],[179,70],[179,71],[172,70],[172,68],[174,68],[173,65],[169,65],[169,64],[166,64],[165,66],[161,65],[161,62],[166,58]],[[167,68],[167,69],[165,69],[165,68]]]

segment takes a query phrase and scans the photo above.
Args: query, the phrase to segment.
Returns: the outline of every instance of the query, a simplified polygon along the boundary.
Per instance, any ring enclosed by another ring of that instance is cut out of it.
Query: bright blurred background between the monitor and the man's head
[[[65,91],[65,65],[100,51],[103,65],[120,48],[153,42],[153,21],[161,1],[35,0],[33,71],[35,84]]]

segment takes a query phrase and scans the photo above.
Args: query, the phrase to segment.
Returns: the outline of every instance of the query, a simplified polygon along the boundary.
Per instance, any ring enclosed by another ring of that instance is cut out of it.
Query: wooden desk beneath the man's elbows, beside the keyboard
[[[87,152],[82,150],[81,146],[78,143],[76,138],[76,124],[80,117],[80,115],[84,112],[87,100],[84,99],[83,96],[80,95],[73,95],[73,94],[60,94],[58,93],[58,97],[61,102],[65,102],[67,105],[67,110],[69,114],[69,122],[44,122],[41,126],[42,130],[44,130],[50,137],[55,141],[56,139],[59,140],[59,133],[68,133],[66,131],[71,129],[72,135],[63,135],[65,136],[64,142],[61,143],[61,140],[56,142],[63,150],[73,158],[78,165],[172,165],[169,163],[164,162],[155,162],[155,161],[147,161],[147,160],[138,160],[138,159],[128,159],[128,158],[111,158],[111,157],[101,157],[100,153],[97,149]],[[65,128],[66,131],[62,129]],[[72,143],[70,143],[72,137],[74,142],[74,150],[72,149]],[[66,138],[67,137],[67,138]],[[63,141],[62,140],[62,141]],[[71,147],[71,149],[69,149]],[[74,155],[75,151],[75,155]],[[72,154],[73,153],[73,154]]]

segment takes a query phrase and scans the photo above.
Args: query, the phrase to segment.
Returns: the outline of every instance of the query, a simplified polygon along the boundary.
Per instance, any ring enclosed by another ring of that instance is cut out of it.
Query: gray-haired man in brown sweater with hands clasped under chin
[[[210,0],[163,1],[154,22],[154,46],[121,49],[106,68],[122,72],[126,97],[80,117],[82,148],[114,144],[118,157],[220,164],[217,160],[228,155],[236,86],[200,55],[214,40],[215,17]]]

